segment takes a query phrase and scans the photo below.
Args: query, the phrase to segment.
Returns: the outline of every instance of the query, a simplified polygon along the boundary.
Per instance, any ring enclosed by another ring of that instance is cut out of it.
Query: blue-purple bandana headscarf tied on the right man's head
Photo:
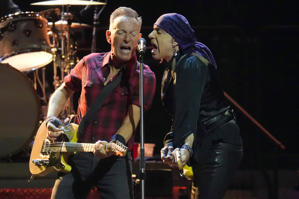
[[[217,69],[211,51],[206,45],[195,41],[194,30],[192,30],[184,16],[177,13],[164,14],[159,17],[154,25],[158,25],[171,35],[179,44],[183,53],[198,53]]]

